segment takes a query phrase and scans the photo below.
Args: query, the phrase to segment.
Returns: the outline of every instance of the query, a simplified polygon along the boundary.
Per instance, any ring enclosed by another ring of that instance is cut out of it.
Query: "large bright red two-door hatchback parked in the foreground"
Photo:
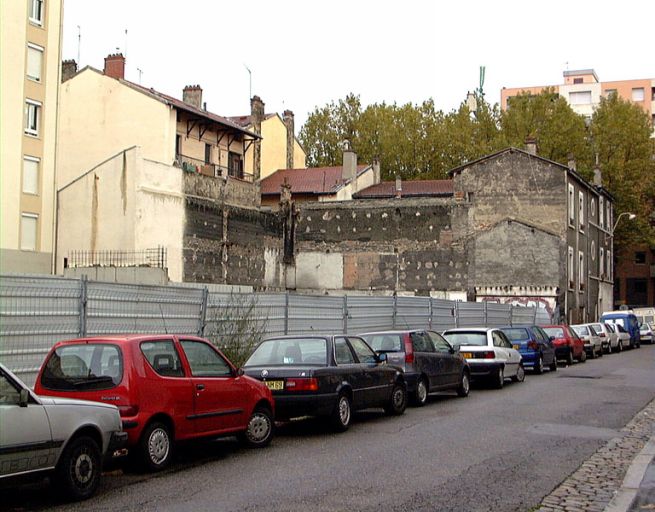
[[[273,436],[271,391],[194,336],[61,341],[46,357],[34,389],[118,406],[130,458],[150,471],[166,467],[175,443],[184,439],[236,434],[260,447]]]

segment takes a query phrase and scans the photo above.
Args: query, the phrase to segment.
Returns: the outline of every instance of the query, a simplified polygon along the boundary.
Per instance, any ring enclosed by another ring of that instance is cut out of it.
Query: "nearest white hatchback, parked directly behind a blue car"
[[[508,377],[525,380],[521,354],[500,329],[461,327],[448,329],[443,336],[464,356],[473,378],[488,379],[496,388],[502,388]]]

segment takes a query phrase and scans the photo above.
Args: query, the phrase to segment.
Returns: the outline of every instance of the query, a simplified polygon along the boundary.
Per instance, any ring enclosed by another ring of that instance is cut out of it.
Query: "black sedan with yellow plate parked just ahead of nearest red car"
[[[278,419],[324,416],[343,432],[358,409],[405,412],[405,377],[386,362],[357,336],[283,336],[262,341],[243,370],[272,390]]]

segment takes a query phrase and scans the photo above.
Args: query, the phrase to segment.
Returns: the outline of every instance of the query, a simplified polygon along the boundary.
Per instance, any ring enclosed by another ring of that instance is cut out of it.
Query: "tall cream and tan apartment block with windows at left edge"
[[[0,271],[51,273],[62,0],[0,2]]]

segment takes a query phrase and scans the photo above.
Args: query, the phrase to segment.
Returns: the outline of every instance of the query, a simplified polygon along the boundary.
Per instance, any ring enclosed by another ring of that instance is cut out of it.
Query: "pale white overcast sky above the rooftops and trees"
[[[503,86],[559,84],[567,68],[655,78],[654,23],[654,0],[64,0],[63,58],[79,49],[102,69],[122,51],[128,80],[179,98],[200,84],[226,116],[250,112],[247,66],[266,112],[293,110],[298,131],[349,92],[450,111],[481,65],[491,103]]]

